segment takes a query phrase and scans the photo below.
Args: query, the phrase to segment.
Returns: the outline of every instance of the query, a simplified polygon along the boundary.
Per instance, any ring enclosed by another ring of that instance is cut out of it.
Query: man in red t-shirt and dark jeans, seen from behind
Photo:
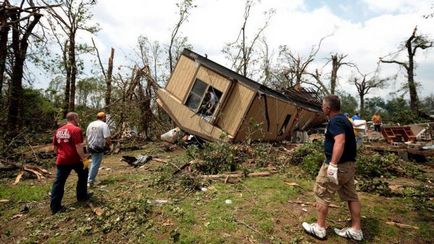
[[[87,193],[88,169],[84,169],[83,160],[86,154],[83,150],[83,133],[78,127],[78,114],[69,112],[66,115],[66,125],[57,129],[53,137],[54,151],[57,153],[56,159],[56,180],[51,189],[50,208],[53,214],[63,209],[62,198],[65,182],[71,170],[78,175],[77,181],[77,200],[86,201],[89,199]]]

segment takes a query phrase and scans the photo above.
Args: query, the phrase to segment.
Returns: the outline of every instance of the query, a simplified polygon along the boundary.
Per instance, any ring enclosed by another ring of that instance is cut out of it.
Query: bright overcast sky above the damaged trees
[[[116,49],[115,66],[122,65],[120,56],[131,55],[139,35],[168,43],[178,18],[177,0],[97,2],[94,18],[102,27],[96,34],[97,45],[104,57],[111,47]],[[194,0],[194,3],[197,7],[181,27],[181,35],[188,37],[193,51],[206,53],[209,59],[227,66],[221,50],[238,35],[245,1]],[[333,34],[324,40],[314,65],[321,67],[331,53],[337,52],[348,54],[347,61],[368,73],[375,70],[379,57],[397,51],[416,25],[418,33],[434,38],[434,18],[423,18],[434,12],[433,4],[433,0],[262,0],[252,8],[247,32],[253,35],[264,23],[264,11],[273,8],[276,13],[264,35],[275,56],[279,45],[287,45],[306,56],[322,37]],[[405,55],[401,58],[405,61]],[[434,48],[419,51],[416,62],[416,80],[422,84],[420,95],[430,95],[434,93]],[[381,65],[382,76],[398,70],[398,65]],[[341,71],[340,89],[355,95],[355,88],[346,82],[350,70],[344,67]],[[329,72],[327,67],[324,72]],[[391,84],[387,91],[399,87],[399,83]],[[374,95],[386,97],[387,93]]]

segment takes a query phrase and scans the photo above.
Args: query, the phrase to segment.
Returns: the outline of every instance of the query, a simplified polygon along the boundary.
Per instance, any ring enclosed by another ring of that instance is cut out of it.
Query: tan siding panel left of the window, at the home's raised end
[[[167,83],[166,90],[178,98],[181,103],[188,95],[198,64],[193,60],[181,56],[175,70]]]

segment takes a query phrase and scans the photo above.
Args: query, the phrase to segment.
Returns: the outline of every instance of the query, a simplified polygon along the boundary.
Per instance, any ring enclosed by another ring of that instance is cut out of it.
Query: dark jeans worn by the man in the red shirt
[[[87,176],[89,173],[88,169],[83,169],[83,163],[78,163],[74,165],[57,165],[56,170],[56,180],[51,188],[51,212],[55,213],[62,208],[62,198],[65,192],[65,183],[71,170],[77,173],[77,201],[88,200],[89,196],[87,194]]]

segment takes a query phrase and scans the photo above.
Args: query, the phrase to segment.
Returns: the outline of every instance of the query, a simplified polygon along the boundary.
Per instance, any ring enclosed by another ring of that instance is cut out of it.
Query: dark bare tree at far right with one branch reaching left
[[[417,49],[427,49],[433,46],[433,42],[428,40],[427,37],[416,35],[417,26],[414,28],[412,35],[405,42],[405,49],[407,50],[407,61],[398,61],[395,59],[385,60],[384,57],[380,58],[382,63],[395,63],[403,67],[407,72],[407,85],[410,92],[410,108],[419,113],[419,98],[417,95],[416,82],[414,80],[414,56],[416,56]],[[403,49],[402,49],[403,50]],[[400,50],[400,51],[402,51]]]

